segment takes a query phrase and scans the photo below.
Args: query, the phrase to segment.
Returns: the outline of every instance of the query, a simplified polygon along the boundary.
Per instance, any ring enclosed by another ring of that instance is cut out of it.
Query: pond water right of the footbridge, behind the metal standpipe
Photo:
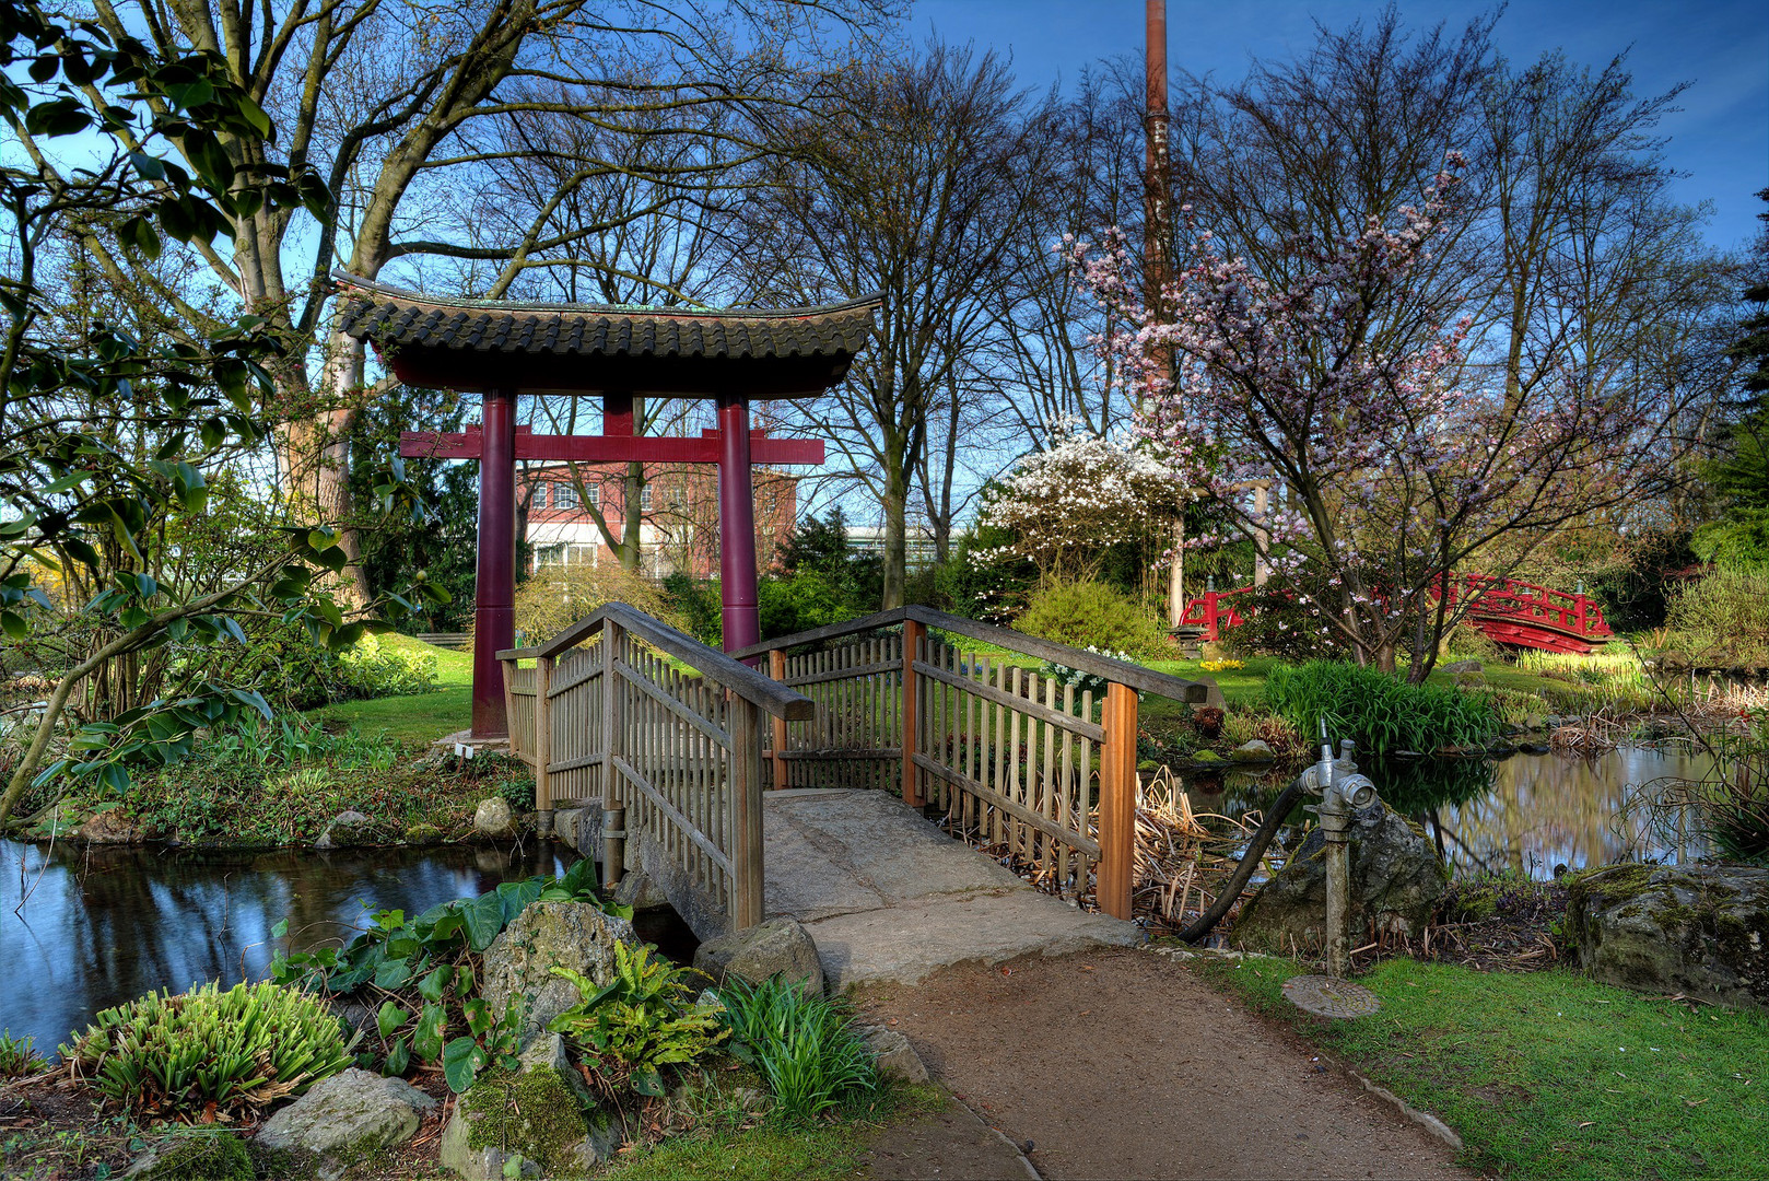
[[[1665,845],[1640,822],[1624,822],[1624,797],[1661,777],[1702,777],[1711,761],[1682,747],[1617,747],[1592,760],[1512,754],[1504,760],[1415,760],[1366,767],[1376,790],[1413,816],[1458,873],[1509,869],[1548,878],[1613,861],[1691,861],[1696,838]],[[1297,768],[1182,776],[1199,811],[1240,816],[1263,809]],[[1293,814],[1291,822],[1304,816]]]

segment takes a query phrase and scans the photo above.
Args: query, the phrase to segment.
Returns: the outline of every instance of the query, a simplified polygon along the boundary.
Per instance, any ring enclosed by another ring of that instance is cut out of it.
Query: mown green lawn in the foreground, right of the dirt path
[[[1574,972],[1389,960],[1382,1013],[1325,1022],[1283,999],[1286,960],[1203,976],[1454,1128],[1467,1160],[1520,1177],[1769,1174],[1769,1016],[1643,997]]]

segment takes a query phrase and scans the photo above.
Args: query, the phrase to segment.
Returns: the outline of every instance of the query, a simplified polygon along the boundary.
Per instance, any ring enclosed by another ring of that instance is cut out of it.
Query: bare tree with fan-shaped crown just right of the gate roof
[[[964,349],[1001,297],[1008,243],[1033,212],[1024,177],[1044,168],[1049,135],[1045,108],[992,53],[938,42],[851,71],[830,103],[780,126],[789,154],[748,211],[747,253],[766,297],[884,292],[872,345],[803,416],[884,510],[890,607],[904,600],[929,416],[962,397]]]

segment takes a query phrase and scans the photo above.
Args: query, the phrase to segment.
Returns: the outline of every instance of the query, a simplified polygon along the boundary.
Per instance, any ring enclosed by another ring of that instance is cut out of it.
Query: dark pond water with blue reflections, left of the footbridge
[[[271,930],[341,942],[375,910],[426,910],[559,873],[563,848],[302,850],[221,855],[0,841],[0,1029],[39,1050],[154,988],[264,974]]]

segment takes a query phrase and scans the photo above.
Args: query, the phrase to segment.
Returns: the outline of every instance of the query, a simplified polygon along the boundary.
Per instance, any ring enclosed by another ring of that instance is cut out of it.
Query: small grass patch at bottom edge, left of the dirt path
[[[853,1177],[863,1170],[877,1139],[888,1135],[888,1124],[941,1112],[948,1103],[946,1092],[936,1085],[893,1084],[867,1107],[844,1110],[837,1119],[810,1126],[778,1119],[764,1119],[741,1130],[702,1124],[662,1144],[621,1153],[596,1177]]]

